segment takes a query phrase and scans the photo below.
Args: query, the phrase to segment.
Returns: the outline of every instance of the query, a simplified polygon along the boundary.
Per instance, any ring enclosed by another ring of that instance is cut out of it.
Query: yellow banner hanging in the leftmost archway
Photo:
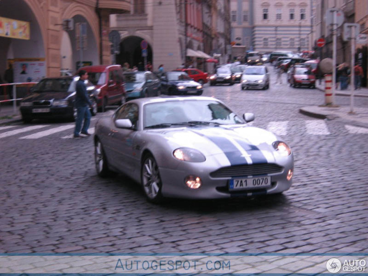
[[[29,22],[0,17],[0,36],[29,40]]]

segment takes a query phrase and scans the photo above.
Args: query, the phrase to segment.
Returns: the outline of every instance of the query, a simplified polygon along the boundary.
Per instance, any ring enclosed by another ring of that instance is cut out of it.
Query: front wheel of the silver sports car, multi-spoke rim
[[[141,183],[143,192],[149,202],[162,202],[162,180],[156,160],[151,154],[147,154],[143,158]]]

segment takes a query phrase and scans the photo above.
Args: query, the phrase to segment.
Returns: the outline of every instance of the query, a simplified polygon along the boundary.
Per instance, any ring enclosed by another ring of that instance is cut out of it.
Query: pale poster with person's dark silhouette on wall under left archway
[[[46,77],[45,59],[14,59],[14,82],[38,82]]]

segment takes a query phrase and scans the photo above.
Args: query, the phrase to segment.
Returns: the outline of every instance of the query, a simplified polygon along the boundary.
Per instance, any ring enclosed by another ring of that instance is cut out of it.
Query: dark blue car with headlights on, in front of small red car
[[[171,71],[161,75],[162,93],[167,95],[202,95],[203,87],[185,72]]]

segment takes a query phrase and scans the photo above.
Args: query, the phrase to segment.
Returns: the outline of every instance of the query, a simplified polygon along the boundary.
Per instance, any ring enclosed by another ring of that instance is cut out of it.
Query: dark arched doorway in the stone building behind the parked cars
[[[142,56],[141,42],[143,38],[139,36],[128,36],[120,42],[120,54],[116,55],[116,63],[123,65],[129,63],[130,68],[141,66],[144,64]],[[148,44],[147,47],[147,62],[152,63],[152,48]],[[141,63],[141,64],[140,64]]]

